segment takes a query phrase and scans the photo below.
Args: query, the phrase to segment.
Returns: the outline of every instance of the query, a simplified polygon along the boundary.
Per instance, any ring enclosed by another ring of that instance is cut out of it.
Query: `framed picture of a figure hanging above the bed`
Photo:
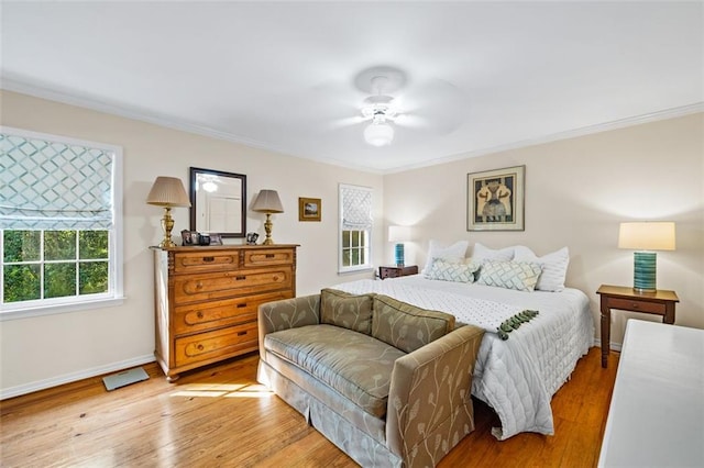
[[[525,231],[526,166],[466,175],[468,231]]]

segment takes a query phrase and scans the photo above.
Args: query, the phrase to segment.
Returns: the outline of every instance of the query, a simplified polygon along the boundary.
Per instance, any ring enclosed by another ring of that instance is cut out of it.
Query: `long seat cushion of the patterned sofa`
[[[376,417],[386,414],[394,363],[405,356],[369,335],[326,324],[270,333],[264,347]]]

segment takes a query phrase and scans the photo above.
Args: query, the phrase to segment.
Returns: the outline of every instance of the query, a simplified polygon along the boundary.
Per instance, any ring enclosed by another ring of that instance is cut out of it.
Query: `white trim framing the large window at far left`
[[[0,125],[0,132],[23,136],[26,138],[46,140],[65,143],[67,145],[89,146],[114,154],[112,170],[112,207],[114,212],[113,230],[114,235],[110,236],[110,274],[113,283],[112,291],[105,294],[89,294],[84,297],[72,297],[66,300],[56,300],[52,303],[28,301],[13,302],[9,304],[0,303],[0,322],[7,320],[26,319],[31,316],[52,315],[56,313],[77,312],[81,310],[99,309],[105,307],[119,305],[124,300],[123,282],[123,213],[122,213],[122,146],[109,145],[106,143],[91,142],[87,140],[69,138],[50,133],[31,132],[28,130],[13,129]],[[1,255],[1,253],[0,253]],[[2,269],[0,269],[0,285],[2,285]]]

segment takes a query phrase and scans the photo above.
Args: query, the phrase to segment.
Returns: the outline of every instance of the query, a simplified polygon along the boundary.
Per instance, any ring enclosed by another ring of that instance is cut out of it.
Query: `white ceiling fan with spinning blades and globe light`
[[[413,89],[407,85],[407,75],[395,67],[377,66],[362,70],[355,76],[354,86],[371,96],[362,101],[356,118],[348,118],[343,122],[369,122],[363,132],[364,140],[380,147],[394,141],[395,126],[447,133],[462,122],[463,113],[453,110],[462,102],[457,87],[440,79],[426,80]]]

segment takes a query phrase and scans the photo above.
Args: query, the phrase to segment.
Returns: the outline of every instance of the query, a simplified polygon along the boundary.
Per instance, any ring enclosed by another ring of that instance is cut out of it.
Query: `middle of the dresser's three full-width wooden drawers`
[[[174,333],[184,335],[206,330],[253,322],[264,302],[289,299],[290,291],[253,294],[221,301],[210,301],[174,308]]]

